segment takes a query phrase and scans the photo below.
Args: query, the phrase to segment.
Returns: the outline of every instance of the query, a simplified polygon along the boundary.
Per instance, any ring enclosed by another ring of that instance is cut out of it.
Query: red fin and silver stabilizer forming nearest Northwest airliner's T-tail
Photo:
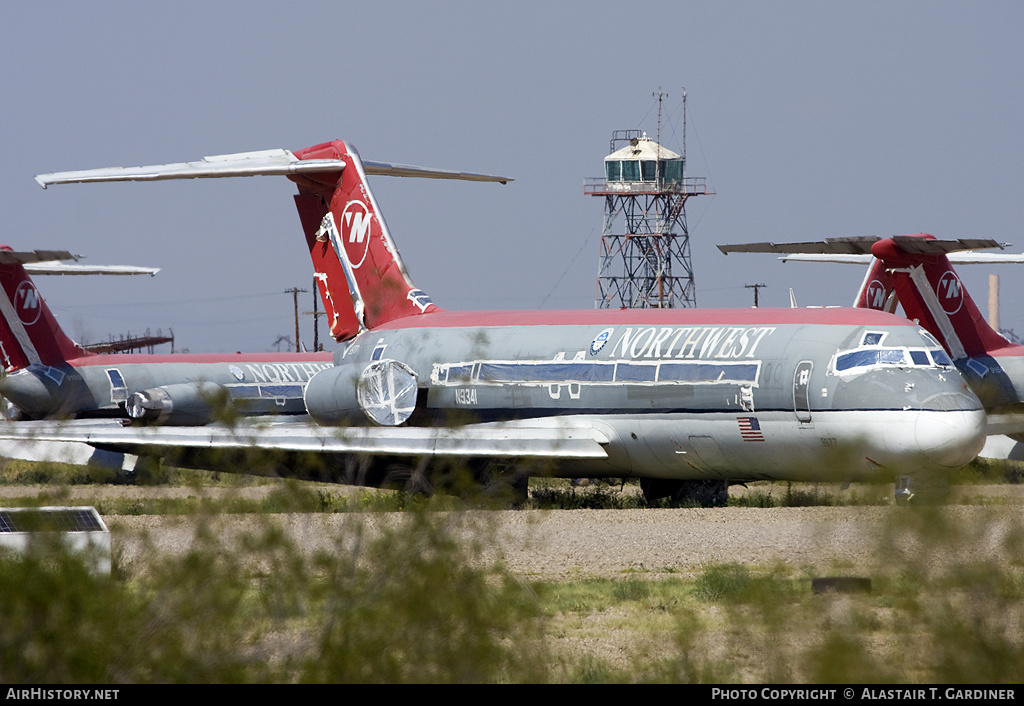
[[[84,181],[158,181],[221,176],[284,175],[295,181],[295,205],[313,261],[331,334],[345,340],[403,317],[438,310],[417,289],[388,233],[367,175],[464,181],[511,181],[507,176],[447,171],[388,162],[365,162],[342,140],[295,153],[266,150],[204,157],[197,162],[106,167],[39,174],[43,189]]]

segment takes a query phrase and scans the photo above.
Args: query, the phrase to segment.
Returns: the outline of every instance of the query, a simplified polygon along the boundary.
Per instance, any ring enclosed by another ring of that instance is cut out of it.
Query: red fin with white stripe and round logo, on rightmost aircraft
[[[1011,345],[985,321],[944,254],[907,253],[891,238],[874,243],[871,254],[892,278],[907,318],[937,337],[954,360]]]

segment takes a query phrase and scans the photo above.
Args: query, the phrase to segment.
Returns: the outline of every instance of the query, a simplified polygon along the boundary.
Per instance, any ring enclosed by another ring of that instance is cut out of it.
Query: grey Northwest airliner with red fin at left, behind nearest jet
[[[0,249],[0,396],[8,414],[204,424],[221,411],[302,414],[331,354],[96,355],[60,329],[20,253]]]

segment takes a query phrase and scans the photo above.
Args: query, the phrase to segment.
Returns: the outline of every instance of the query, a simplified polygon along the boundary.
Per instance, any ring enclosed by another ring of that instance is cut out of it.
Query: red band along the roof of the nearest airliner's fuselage
[[[396,319],[375,331],[473,326],[916,326],[911,321],[867,308],[646,308],[555,312],[433,312]]]

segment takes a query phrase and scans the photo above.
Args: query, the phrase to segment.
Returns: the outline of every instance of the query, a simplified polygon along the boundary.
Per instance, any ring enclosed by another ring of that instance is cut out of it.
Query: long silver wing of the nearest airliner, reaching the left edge
[[[607,458],[610,440],[597,423],[530,419],[465,426],[328,427],[308,417],[257,418],[227,427],[123,426],[120,420],[19,421],[0,425],[0,440],[83,443],[158,453],[162,449],[245,449],[409,456]]]

